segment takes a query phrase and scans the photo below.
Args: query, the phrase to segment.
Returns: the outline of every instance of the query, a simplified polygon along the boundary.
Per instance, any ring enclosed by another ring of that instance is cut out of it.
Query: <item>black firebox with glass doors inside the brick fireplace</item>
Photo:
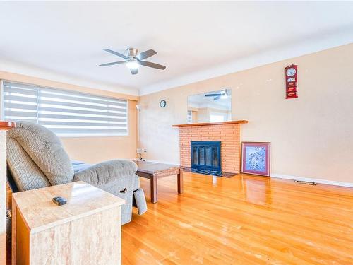
[[[191,168],[221,172],[220,141],[191,141]]]

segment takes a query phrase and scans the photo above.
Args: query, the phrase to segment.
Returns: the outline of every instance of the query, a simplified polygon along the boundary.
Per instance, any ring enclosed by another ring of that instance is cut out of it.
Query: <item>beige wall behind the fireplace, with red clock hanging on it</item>
[[[285,99],[284,68],[298,65],[299,98]],[[353,44],[140,97],[145,158],[179,163],[188,95],[232,88],[242,141],[271,142],[271,172],[353,182]],[[167,100],[167,107],[159,101]]]

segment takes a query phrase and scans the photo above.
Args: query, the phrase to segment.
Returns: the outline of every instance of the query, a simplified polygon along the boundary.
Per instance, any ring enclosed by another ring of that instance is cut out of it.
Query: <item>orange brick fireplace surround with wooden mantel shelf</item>
[[[191,141],[220,141],[221,168],[240,172],[240,126],[247,121],[179,124],[180,165],[191,167]]]

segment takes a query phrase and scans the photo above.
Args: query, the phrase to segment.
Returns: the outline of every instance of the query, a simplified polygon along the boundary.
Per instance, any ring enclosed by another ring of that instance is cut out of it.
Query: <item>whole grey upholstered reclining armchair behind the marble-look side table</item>
[[[82,180],[125,199],[122,224],[131,221],[132,206],[147,211],[136,163],[110,160],[88,165],[71,161],[56,134],[32,122],[17,122],[7,134],[8,179],[13,192]]]

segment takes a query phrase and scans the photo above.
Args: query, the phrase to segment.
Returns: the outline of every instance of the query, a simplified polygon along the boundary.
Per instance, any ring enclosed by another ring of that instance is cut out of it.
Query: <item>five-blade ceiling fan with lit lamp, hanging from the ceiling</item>
[[[127,68],[130,69],[132,74],[136,74],[138,71],[138,67],[140,65],[143,66],[148,66],[152,67],[155,69],[161,69],[164,70],[165,66],[160,65],[160,64],[155,64],[150,61],[143,61],[143,59],[146,59],[148,57],[151,57],[157,52],[155,52],[153,49],[148,49],[145,52],[140,52],[138,54],[138,49],[135,48],[128,48],[126,49],[128,51],[128,55],[120,54],[119,52],[114,52],[112,49],[103,49],[106,52],[110,52],[111,54],[117,55],[121,58],[124,58],[125,61],[114,61],[112,63],[107,63],[107,64],[100,64],[100,66],[110,66],[110,65],[115,65],[115,64],[126,64]]]

